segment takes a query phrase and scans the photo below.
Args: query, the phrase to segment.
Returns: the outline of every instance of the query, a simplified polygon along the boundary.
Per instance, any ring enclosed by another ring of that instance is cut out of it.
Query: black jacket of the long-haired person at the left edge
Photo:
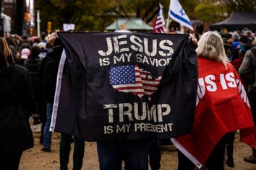
[[[27,70],[17,64],[0,66],[0,154],[33,148],[28,118],[36,112]]]

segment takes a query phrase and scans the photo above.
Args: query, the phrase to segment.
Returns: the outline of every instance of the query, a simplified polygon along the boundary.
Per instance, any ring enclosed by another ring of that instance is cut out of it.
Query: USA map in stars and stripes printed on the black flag
[[[153,94],[161,82],[162,77],[153,79],[150,72],[144,71],[139,66],[117,66],[110,68],[109,80],[111,86],[117,91],[132,92],[142,98],[148,97],[151,101],[151,94]]]

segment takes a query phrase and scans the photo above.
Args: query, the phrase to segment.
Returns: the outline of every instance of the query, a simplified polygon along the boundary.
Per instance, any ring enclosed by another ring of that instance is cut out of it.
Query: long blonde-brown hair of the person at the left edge
[[[12,51],[4,37],[0,37],[0,63],[4,63],[7,67],[14,63]]]

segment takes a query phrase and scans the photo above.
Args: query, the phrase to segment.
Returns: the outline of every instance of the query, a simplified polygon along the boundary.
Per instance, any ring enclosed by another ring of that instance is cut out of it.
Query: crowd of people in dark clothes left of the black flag
[[[1,169],[18,169],[22,152],[33,148],[33,124],[41,123],[42,151],[51,152],[51,113],[62,46],[59,40],[12,35],[1,37]],[[61,134],[61,169],[67,169],[74,140],[74,169],[82,168],[85,141]]]

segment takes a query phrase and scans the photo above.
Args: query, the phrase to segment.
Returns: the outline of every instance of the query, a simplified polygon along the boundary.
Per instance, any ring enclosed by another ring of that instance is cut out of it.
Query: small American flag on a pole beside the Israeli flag
[[[163,18],[163,6],[159,4],[158,15],[154,25],[154,33],[166,33],[166,23]]]

